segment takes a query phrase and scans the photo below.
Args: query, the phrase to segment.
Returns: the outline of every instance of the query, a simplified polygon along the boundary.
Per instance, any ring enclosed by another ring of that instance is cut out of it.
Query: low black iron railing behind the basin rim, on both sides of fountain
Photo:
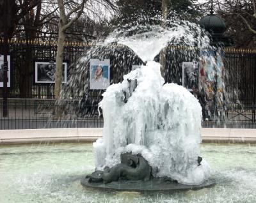
[[[36,128],[102,128],[103,117],[98,109],[99,100],[64,100],[63,116],[56,118],[55,100],[8,99],[8,117],[3,117],[0,100],[0,130]],[[206,120],[205,128],[256,128],[256,107],[237,106],[224,111],[225,120]]]

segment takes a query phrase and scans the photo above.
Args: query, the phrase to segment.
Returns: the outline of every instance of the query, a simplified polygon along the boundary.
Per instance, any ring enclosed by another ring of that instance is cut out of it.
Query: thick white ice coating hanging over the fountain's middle
[[[184,87],[163,84],[160,64],[150,61],[108,87],[100,102],[103,138],[93,143],[97,169],[112,167],[120,163],[121,153],[132,152],[148,161],[156,177],[172,177],[182,184],[209,178],[207,162],[197,162],[200,103]]]

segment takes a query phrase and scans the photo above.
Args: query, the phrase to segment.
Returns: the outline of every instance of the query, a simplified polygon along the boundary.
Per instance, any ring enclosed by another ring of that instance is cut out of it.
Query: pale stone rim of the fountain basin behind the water
[[[32,142],[95,142],[102,128],[0,130],[0,144]],[[256,143],[256,129],[202,128],[203,142]]]

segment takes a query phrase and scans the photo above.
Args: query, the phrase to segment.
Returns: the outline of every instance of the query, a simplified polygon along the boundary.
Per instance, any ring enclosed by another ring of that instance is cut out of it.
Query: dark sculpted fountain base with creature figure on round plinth
[[[198,157],[198,166],[202,158]],[[176,192],[180,190],[199,190],[215,184],[208,179],[202,184],[180,184],[170,177],[153,177],[152,167],[141,154],[121,154],[121,163],[105,170],[95,170],[81,180],[83,186],[102,190],[136,192]]]

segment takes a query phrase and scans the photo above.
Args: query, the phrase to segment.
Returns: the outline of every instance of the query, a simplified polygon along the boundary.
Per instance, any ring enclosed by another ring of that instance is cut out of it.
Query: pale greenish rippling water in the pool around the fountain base
[[[80,180],[95,169],[92,144],[1,146],[0,202],[255,202],[256,145],[202,144],[216,186],[175,193],[102,192]]]

